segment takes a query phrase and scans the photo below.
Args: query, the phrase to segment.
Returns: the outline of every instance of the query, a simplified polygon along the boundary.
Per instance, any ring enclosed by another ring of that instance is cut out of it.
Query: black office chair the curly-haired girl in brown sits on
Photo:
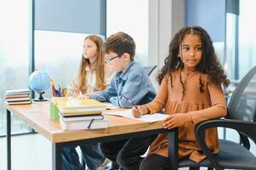
[[[200,167],[229,169],[256,169],[256,156],[249,151],[248,138],[256,143],[256,66],[242,78],[230,98],[228,116],[225,119],[209,120],[199,123],[195,128],[196,139],[203,153],[207,156],[199,164],[189,160],[179,161],[179,167]],[[241,144],[230,140],[219,139],[219,153],[208,150],[204,141],[204,131],[211,127],[228,127],[235,129],[241,137]],[[171,142],[171,141],[170,141]]]

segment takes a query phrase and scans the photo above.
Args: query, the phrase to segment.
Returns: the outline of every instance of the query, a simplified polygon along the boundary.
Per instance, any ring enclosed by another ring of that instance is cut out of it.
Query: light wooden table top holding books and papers
[[[38,133],[52,143],[75,141],[79,139],[93,139],[122,133],[134,133],[153,129],[161,129],[162,122],[141,122],[120,116],[105,117],[109,120],[109,127],[104,129],[63,131],[59,121],[50,119],[50,103],[37,102],[31,105],[8,105],[4,107],[30,125]]]

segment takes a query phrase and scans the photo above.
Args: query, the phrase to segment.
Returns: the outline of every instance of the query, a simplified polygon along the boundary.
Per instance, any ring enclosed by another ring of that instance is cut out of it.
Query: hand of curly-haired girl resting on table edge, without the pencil
[[[163,122],[162,126],[170,129],[183,126],[185,122],[191,122],[191,115],[186,113],[176,113],[168,116]]]

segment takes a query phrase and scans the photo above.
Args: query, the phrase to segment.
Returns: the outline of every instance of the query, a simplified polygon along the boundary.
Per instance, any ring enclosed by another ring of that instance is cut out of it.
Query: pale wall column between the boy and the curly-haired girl
[[[184,0],[149,0],[149,57],[161,69],[168,45],[176,31],[185,26]]]

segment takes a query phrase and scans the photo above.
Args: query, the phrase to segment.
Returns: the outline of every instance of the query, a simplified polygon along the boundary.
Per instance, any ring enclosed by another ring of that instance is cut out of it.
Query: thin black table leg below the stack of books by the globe
[[[11,170],[11,112],[6,110],[7,118],[7,169]]]

